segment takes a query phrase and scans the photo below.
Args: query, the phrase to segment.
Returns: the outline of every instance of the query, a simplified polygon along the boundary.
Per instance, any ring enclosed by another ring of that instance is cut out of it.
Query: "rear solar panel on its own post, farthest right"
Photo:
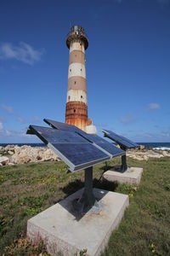
[[[132,141],[128,140],[126,137],[122,137],[117,135],[113,131],[109,130],[102,130],[105,134],[105,137],[109,137],[112,141],[120,144],[123,148],[139,148],[137,143],[133,143]]]

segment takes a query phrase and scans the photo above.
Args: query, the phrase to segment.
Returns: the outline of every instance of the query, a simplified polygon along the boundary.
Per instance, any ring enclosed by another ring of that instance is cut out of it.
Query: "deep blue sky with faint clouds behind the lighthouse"
[[[65,121],[70,26],[88,34],[88,116],[136,142],[170,142],[169,0],[2,0],[0,143]]]

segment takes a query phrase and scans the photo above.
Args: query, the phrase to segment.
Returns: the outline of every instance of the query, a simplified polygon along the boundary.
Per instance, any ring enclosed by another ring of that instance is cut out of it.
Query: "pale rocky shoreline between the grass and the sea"
[[[127,150],[127,157],[135,160],[149,160],[150,158],[170,157],[169,150],[139,149]],[[27,145],[8,145],[0,147],[0,166],[15,164],[37,163],[41,161],[59,161],[59,157],[47,147],[31,147]]]

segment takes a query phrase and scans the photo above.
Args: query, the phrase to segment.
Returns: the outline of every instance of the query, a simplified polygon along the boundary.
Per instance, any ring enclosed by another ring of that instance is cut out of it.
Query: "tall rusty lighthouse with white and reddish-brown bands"
[[[92,125],[92,120],[88,119],[85,58],[85,50],[88,49],[88,37],[82,26],[71,26],[66,38],[66,45],[70,54],[65,123],[76,125],[82,131],[94,134],[96,128]]]

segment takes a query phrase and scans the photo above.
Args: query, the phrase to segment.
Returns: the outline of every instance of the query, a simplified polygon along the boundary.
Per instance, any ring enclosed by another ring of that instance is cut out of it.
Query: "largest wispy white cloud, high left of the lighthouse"
[[[33,49],[30,44],[20,42],[19,46],[4,43],[0,46],[0,58],[3,60],[17,60],[26,64],[33,65],[35,62],[40,61],[44,49]]]

